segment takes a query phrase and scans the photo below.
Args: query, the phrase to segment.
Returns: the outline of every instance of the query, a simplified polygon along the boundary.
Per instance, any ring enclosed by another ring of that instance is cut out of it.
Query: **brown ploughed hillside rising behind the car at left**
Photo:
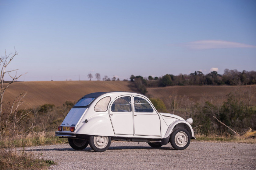
[[[130,91],[138,92],[132,82],[124,81],[38,81],[15,82],[5,92],[4,101],[13,101],[21,92],[27,91],[24,98],[32,106],[45,103],[60,106],[66,101],[77,101],[93,92]],[[31,107],[28,103],[24,106]]]

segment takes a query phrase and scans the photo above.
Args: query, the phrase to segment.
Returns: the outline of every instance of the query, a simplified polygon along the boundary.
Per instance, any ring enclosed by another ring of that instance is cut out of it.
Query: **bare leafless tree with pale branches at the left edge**
[[[6,54],[6,50],[5,50],[5,56],[1,56],[0,57],[0,69],[1,69],[1,75],[0,75],[0,122],[1,122],[1,118],[2,118],[2,108],[3,108],[3,98],[4,98],[4,93],[5,90],[9,87],[9,85],[11,85],[15,80],[17,80],[18,78],[20,78],[22,75],[17,76],[17,70],[11,70],[11,71],[6,71],[6,67],[10,64],[10,62],[12,61],[12,59],[18,55],[18,52],[16,51],[15,47],[14,47],[15,53],[14,54]],[[16,74],[14,76],[11,76],[10,73],[16,71]],[[4,76],[5,74],[8,73],[8,75],[12,78],[12,80],[9,83],[6,83],[4,85]],[[1,125],[0,125],[1,126]]]

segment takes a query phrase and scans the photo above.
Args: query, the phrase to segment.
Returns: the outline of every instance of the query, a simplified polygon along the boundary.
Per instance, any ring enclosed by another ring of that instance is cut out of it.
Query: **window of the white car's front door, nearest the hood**
[[[134,97],[134,110],[135,112],[153,112],[150,104],[143,98]]]

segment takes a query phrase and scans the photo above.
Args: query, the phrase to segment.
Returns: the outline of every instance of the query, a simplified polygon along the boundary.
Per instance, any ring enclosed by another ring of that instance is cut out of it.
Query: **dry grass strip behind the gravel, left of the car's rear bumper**
[[[2,136],[0,138],[0,147],[27,147],[61,143],[68,143],[68,140],[55,137],[54,131],[30,132],[27,135]]]

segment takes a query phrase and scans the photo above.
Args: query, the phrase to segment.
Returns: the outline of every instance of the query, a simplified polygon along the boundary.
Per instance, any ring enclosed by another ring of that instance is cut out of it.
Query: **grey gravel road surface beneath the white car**
[[[256,169],[256,144],[191,141],[182,151],[171,144],[152,148],[147,143],[112,142],[105,152],[88,145],[74,150],[69,144],[26,147],[52,160],[50,169]]]

